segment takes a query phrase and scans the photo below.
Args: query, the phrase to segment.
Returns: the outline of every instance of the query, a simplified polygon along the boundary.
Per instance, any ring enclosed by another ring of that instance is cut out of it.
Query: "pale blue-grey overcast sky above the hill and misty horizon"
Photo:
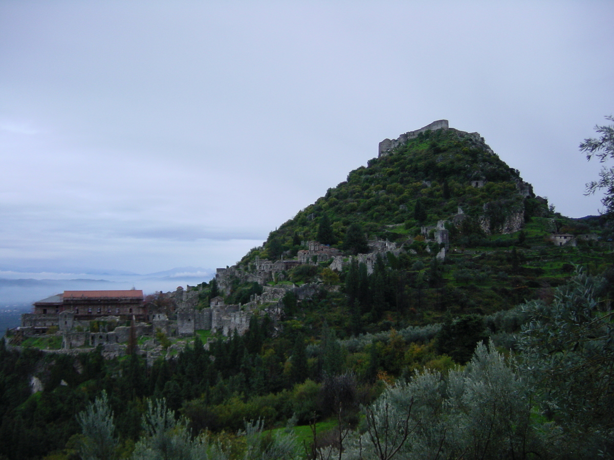
[[[440,118],[570,217],[613,1],[0,1],[0,270],[234,264]]]

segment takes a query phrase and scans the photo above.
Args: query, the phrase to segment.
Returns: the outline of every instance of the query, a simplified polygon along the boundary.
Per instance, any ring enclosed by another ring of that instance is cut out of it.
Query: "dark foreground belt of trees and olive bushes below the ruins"
[[[499,331],[490,349],[476,347],[488,337],[475,317],[348,340],[324,328],[311,343],[254,319],[242,337],[211,350],[196,338],[152,367],[0,345],[0,455],[612,458],[611,280],[577,274],[548,300],[484,318]],[[33,374],[44,391],[29,391]],[[332,431],[306,450],[292,430],[262,432],[328,417]]]

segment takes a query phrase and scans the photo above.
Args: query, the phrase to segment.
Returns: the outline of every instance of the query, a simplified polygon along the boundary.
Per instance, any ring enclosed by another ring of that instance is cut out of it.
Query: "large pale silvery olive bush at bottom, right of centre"
[[[523,459],[538,450],[526,383],[483,344],[464,369],[416,374],[365,412],[365,432],[348,440],[346,460]]]

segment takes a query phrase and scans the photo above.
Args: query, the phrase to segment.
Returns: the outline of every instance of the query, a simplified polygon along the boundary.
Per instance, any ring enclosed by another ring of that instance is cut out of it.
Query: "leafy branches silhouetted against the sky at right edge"
[[[606,120],[614,121],[614,117],[609,115]],[[590,160],[593,156],[604,163],[608,158],[614,158],[614,125],[595,126],[595,131],[601,134],[599,138],[585,139],[580,144],[580,151],[586,153],[586,159]],[[602,167],[599,172],[599,180],[594,180],[586,184],[586,194],[595,193],[600,188],[605,188],[605,196],[601,203],[605,206],[604,214],[614,213],[614,167]]]

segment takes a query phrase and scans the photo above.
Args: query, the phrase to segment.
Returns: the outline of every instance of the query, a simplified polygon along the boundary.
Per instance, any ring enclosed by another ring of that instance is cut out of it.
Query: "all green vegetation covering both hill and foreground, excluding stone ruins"
[[[255,315],[246,334],[209,347],[199,331],[149,365],[135,347],[105,360],[100,348],[0,341],[0,459],[613,458],[612,247],[554,247],[553,231],[603,224],[562,217],[519,182],[479,137],[426,132],[352,171],[241,261],[292,256],[312,239],[346,255],[366,236],[405,242],[372,274],[357,259],[339,273],[283,273],[276,282],[317,287],[287,293],[279,321]],[[438,260],[420,227],[458,207],[465,218],[448,225]],[[524,228],[500,234],[512,213]],[[223,294],[215,281],[198,288],[200,307]],[[260,293],[237,282],[225,301]]]

